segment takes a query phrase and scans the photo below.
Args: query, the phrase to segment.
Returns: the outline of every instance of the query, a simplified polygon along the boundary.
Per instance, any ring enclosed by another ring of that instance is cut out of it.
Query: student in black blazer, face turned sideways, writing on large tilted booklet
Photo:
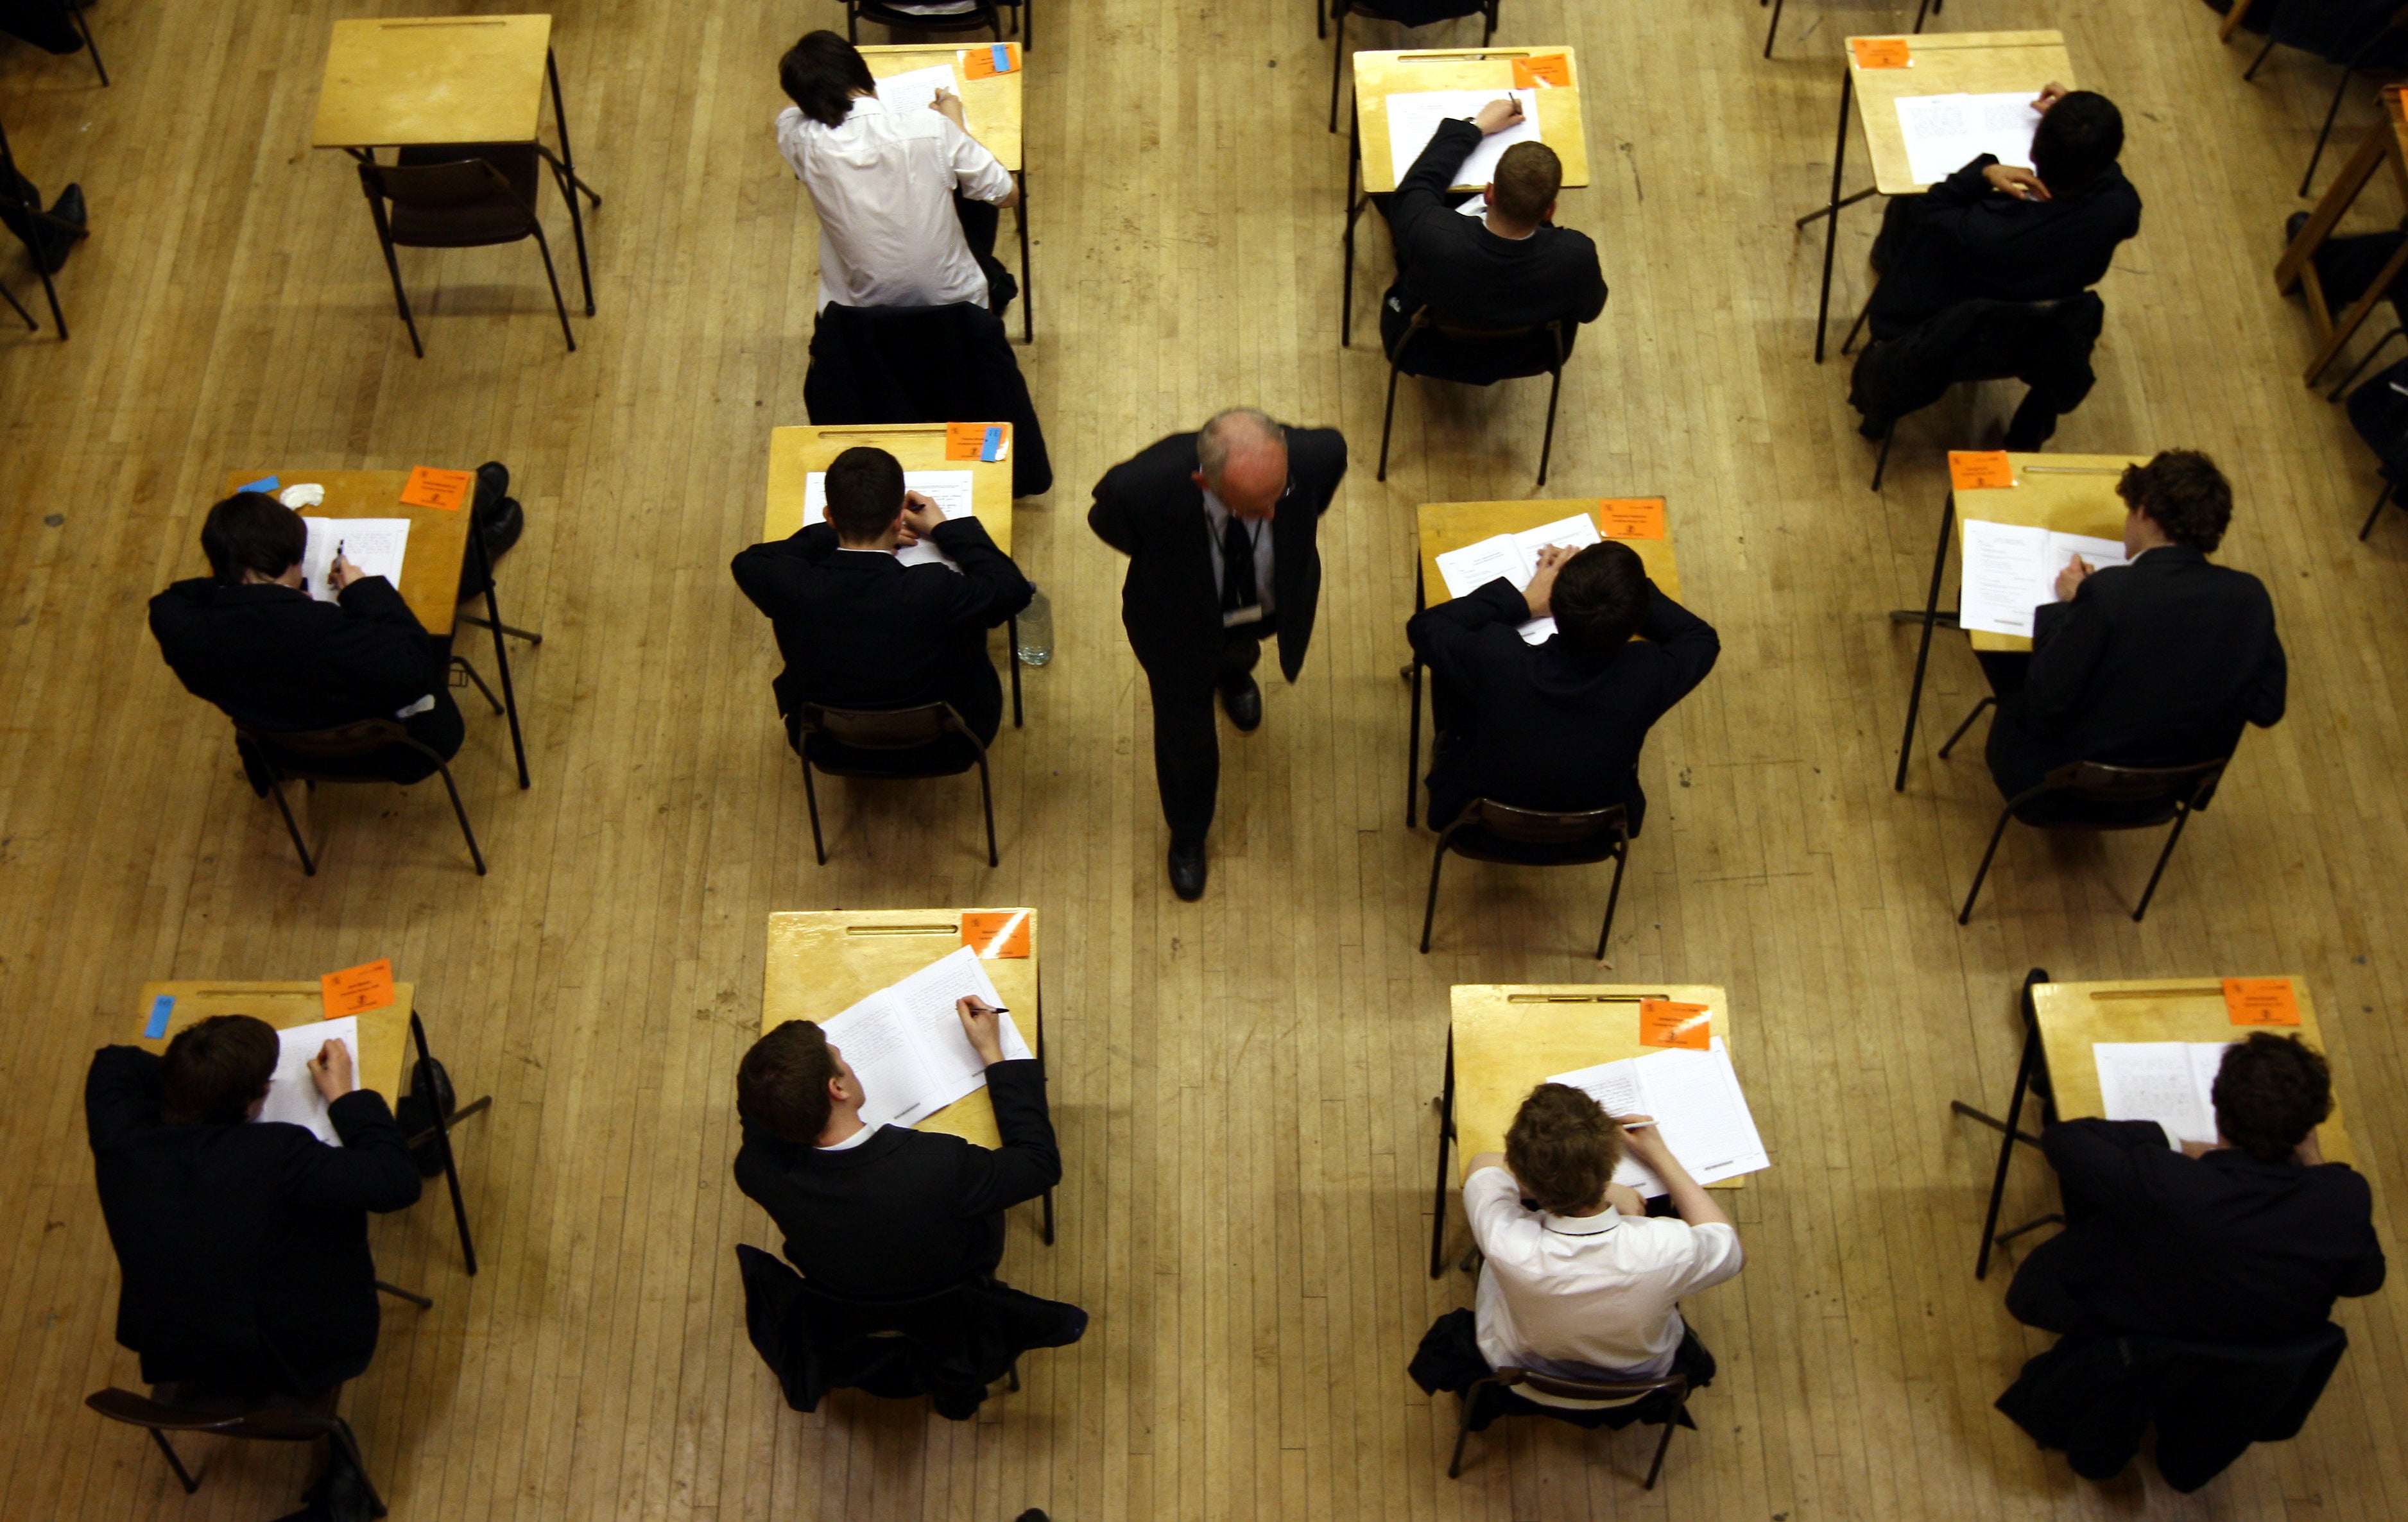
[[[744,1052],[737,1187],[778,1221],[785,1257],[838,1296],[901,1300],[992,1279],[1004,1209],[1062,1180],[1045,1069],[1004,1062],[997,1011],[958,999],[961,1028],[987,1067],[1002,1146],[862,1127],[862,1084],[811,1021],[785,1021]]]

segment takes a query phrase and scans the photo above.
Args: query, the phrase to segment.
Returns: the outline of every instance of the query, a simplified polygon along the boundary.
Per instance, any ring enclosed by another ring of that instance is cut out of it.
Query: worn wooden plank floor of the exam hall
[[[2061,26],[2081,84],[2124,106],[2148,212],[2102,287],[2100,385],[2056,448],[2213,450],[2239,484],[2223,559],[2273,588],[2292,660],[2290,718],[2251,732],[2146,925],[2148,840],[2015,833],[1958,930],[1994,795],[1975,754],[1931,749],[1977,672],[1941,641],[1893,795],[1912,641],[1885,609],[1922,595],[1941,450],[1994,443],[2015,388],[1902,426],[1869,494],[1847,368],[1808,359],[1820,241],[1792,231],[1830,176],[1837,39],[1912,7],[1799,0],[1767,63],[1767,12],[1743,0],[1505,5],[1500,41],[1580,48],[1597,183],[1560,217],[1613,284],[1565,376],[1548,491],[1664,494],[1688,604],[1724,641],[1647,751],[1654,814],[1601,973],[1589,872],[1450,872],[1435,949],[1413,951],[1411,513],[1529,494],[1539,385],[1406,383],[1373,482],[1385,371],[1368,323],[1336,344],[1344,137],[1322,128],[1329,46],[1305,5],[1040,10],[1023,368],[1060,486],[1021,506],[1019,547],[1060,653],[999,744],[992,872],[966,783],[833,785],[833,860],[811,865],[768,629],[725,571],[761,518],[768,429],[804,421],[816,238],[768,120],[778,51],[833,5],[559,10],[580,164],[607,195],[576,354],[518,246],[405,253],[412,359],[354,176],[308,149],[335,7],[101,0],[111,89],[84,58],[0,46],[19,159],[46,190],[82,181],[96,226],[65,272],[72,342],[0,328],[0,1515],[294,1505],[299,1452],[195,1440],[207,1476],[185,1498],[140,1433],[79,1406],[135,1382],[82,1069],[135,1033],[147,978],[373,956],[419,985],[462,1091],[496,1096],[462,1144],[484,1272],[460,1272],[441,1197],[373,1226],[380,1269],[436,1298],[388,1312],[344,1394],[395,1517],[2408,1512],[2396,1293],[2343,1305],[2353,1351],[2304,1435],[2201,1496],[2088,1486],[2037,1455],[1989,1409],[2042,1339],[2006,1317],[2001,1276],[1972,1279],[1991,1151],[1948,1115],[1953,1096],[2003,1103],[2030,966],[2300,973],[2396,1247],[2408,523],[2353,537],[2372,462],[2300,385],[2307,323],[2268,279],[2331,67],[2278,53],[2244,84],[2254,43],[2220,48],[2191,0],[1950,0],[1938,19]],[[2353,94],[2345,137],[2369,120]],[[1876,222],[1845,217],[1842,313]],[[1370,265],[1365,306],[1387,279]],[[0,272],[39,301],[14,246]],[[1344,426],[1356,470],[1322,527],[1310,662],[1257,735],[1226,737],[1211,891],[1182,905],[1122,561],[1081,513],[1108,465],[1235,402]],[[330,797],[306,879],[142,602],[197,571],[229,470],[484,458],[527,506],[501,585],[544,631],[518,657],[535,787],[510,785],[501,722],[472,718],[460,773],[491,877],[419,787]],[[850,1394],[804,1418],[744,1339],[730,1252],[775,1245],[730,1182],[763,915],[949,903],[1045,913],[1069,1173],[1060,1245],[1019,1211],[1007,1274],[1096,1320],[978,1423]],[[1592,978],[1731,995],[1772,1170],[1739,1197],[1746,1274],[1690,1305],[1722,1380],[1654,1493],[1649,1438],[1553,1423],[1495,1428],[1447,1481],[1454,1402],[1404,1378],[1428,1320],[1469,1303],[1464,1276],[1421,1267],[1447,985]],[[2025,1163],[2008,1207],[2047,1194]]]

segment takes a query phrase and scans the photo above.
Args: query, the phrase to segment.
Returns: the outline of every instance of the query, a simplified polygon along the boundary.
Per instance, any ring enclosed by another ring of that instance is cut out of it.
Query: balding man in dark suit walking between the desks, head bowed
[[[1214,691],[1228,722],[1252,732],[1262,641],[1279,638],[1288,682],[1305,667],[1322,595],[1315,530],[1341,479],[1336,429],[1288,429],[1233,407],[1096,482],[1086,525],[1129,556],[1120,621],[1153,694],[1153,775],[1180,898],[1204,896],[1204,833],[1221,787]]]

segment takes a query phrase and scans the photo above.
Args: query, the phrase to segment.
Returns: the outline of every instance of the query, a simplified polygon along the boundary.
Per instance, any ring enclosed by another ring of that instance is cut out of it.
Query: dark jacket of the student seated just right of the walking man
[[[1712,624],[1647,583],[1637,641],[1597,662],[1560,633],[1524,643],[1529,602],[1503,576],[1404,626],[1438,682],[1471,706],[1469,735],[1430,766],[1430,824],[1474,797],[1522,809],[1625,804],[1630,833],[1647,814],[1637,763],[1647,727],[1705,682],[1722,653]]]

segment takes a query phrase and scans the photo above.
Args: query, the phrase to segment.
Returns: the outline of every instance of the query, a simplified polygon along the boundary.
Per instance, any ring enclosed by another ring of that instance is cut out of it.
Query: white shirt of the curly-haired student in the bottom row
[[[1488,1260],[1481,1269],[1479,1344],[1488,1368],[1570,1378],[1654,1380],[1681,1349],[1681,1296],[1739,1274],[1739,1231],[1671,1216],[1597,1216],[1522,1209],[1522,1185],[1498,1166],[1464,1180],[1464,1214]],[[1597,1406],[1539,1394],[1544,1406]]]

